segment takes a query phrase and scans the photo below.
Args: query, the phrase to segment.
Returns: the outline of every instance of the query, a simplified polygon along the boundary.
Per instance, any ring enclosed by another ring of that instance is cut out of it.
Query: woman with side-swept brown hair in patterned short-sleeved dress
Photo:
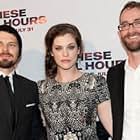
[[[48,140],[98,140],[96,117],[112,136],[112,115],[105,79],[77,69],[82,38],[72,24],[52,26],[46,36],[46,79],[38,82]]]

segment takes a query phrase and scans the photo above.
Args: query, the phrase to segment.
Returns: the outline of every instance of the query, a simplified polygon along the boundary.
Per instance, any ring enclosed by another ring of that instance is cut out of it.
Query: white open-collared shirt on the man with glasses
[[[140,65],[133,69],[125,63],[124,124],[122,140],[140,139]]]

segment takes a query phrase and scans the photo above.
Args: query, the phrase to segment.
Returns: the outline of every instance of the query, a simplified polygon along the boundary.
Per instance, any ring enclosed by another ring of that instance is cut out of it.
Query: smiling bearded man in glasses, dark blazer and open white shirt
[[[140,2],[126,3],[118,34],[127,59],[109,69],[107,83],[113,113],[113,140],[140,139]]]

